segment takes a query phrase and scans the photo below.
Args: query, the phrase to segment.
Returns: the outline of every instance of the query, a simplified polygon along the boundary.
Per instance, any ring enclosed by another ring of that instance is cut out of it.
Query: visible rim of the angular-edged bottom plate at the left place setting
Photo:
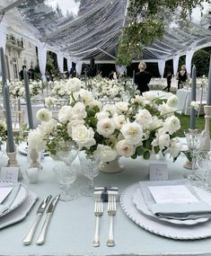
[[[21,221],[30,212],[31,207],[38,199],[38,196],[29,190],[27,198],[24,200],[21,206],[16,207],[12,212],[5,216],[0,217],[0,229],[7,225],[13,225]]]

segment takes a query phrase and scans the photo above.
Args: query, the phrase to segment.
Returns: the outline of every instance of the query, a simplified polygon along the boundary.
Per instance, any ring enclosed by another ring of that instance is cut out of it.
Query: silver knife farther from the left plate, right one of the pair
[[[48,231],[48,225],[49,225],[51,216],[54,213],[55,207],[57,206],[57,201],[58,201],[59,198],[60,198],[60,195],[57,195],[57,197],[52,199],[50,205],[48,206],[48,210],[46,212],[47,216],[46,216],[45,222],[42,226],[42,229],[41,229],[40,235],[38,237],[38,240],[36,242],[39,245],[45,242],[46,234],[47,234],[47,231]]]

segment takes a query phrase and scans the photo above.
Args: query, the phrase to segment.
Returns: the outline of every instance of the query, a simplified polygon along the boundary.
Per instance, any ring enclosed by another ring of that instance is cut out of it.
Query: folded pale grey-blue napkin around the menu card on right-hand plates
[[[188,203],[156,203],[149,190],[153,186],[174,186],[185,185],[187,189],[198,199],[197,202]],[[143,181],[140,182],[140,188],[145,200],[145,205],[158,218],[165,217],[171,219],[197,219],[201,217],[211,217],[211,206],[202,201],[196,190],[189,184],[189,181]]]

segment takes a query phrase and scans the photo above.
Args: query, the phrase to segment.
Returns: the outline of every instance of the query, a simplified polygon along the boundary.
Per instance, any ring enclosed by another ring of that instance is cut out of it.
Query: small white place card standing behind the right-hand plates
[[[168,181],[167,163],[149,163],[150,181]]]

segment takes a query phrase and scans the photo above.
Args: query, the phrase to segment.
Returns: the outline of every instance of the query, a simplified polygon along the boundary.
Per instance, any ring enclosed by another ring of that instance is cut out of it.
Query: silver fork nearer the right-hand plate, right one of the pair
[[[108,203],[108,214],[110,216],[110,230],[109,230],[109,237],[107,241],[108,246],[114,246],[114,235],[113,235],[113,217],[116,215],[117,207],[116,207],[116,197],[109,196],[109,203]]]

